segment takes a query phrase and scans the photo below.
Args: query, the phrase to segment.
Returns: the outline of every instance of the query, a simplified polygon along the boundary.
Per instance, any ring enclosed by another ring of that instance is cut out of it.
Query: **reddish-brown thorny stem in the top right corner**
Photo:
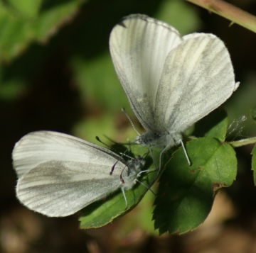
[[[246,11],[242,11],[238,7],[228,4],[225,1],[220,0],[186,0],[193,4],[208,9],[208,11],[216,13],[224,18],[232,21],[230,24],[238,23],[238,25],[243,26],[249,30],[256,33],[256,17]]]

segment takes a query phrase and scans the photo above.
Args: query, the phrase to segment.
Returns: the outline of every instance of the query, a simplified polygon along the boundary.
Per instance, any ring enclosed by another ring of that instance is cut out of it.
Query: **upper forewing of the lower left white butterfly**
[[[18,178],[39,164],[52,160],[91,161],[98,164],[108,162],[106,165],[112,167],[114,162],[119,159],[119,156],[110,150],[78,137],[52,131],[32,132],[23,136],[16,143],[12,157]]]

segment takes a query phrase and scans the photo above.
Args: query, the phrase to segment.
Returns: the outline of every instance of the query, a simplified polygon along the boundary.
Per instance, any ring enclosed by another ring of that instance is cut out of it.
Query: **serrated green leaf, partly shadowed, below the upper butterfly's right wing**
[[[181,148],[174,152],[161,175],[153,219],[160,234],[184,233],[206,219],[215,191],[230,186],[237,160],[230,145],[210,137],[186,144],[191,166]]]

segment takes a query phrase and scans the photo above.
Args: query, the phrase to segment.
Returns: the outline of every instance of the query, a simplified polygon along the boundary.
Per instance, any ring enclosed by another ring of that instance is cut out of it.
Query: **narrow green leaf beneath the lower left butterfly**
[[[134,145],[131,147],[131,150],[133,154],[136,154],[136,156],[144,156],[144,154],[148,152],[149,148]],[[156,152],[156,157],[157,156],[159,156],[159,152]],[[152,164],[150,155],[146,157],[146,165],[144,166],[144,169],[148,168],[154,169],[154,164]],[[102,227],[107,225],[107,223],[111,223],[113,220],[121,217],[125,213],[128,213],[135,206],[137,206],[139,201],[141,201],[142,197],[145,195],[146,191],[148,191],[148,189],[154,183],[156,174],[157,170],[142,173],[142,176],[139,178],[139,181],[141,181],[142,184],[137,182],[133,189],[125,191],[125,196],[128,202],[127,209],[121,190],[84,208],[82,210],[82,216],[80,217],[80,227],[83,229]]]

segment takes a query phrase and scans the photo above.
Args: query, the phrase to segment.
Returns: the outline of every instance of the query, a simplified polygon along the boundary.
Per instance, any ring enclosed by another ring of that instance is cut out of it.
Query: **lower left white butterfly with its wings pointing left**
[[[103,147],[50,131],[22,137],[12,157],[19,201],[50,217],[71,215],[117,189],[122,190],[127,207],[124,190],[132,189],[144,165],[140,157],[125,162]]]

